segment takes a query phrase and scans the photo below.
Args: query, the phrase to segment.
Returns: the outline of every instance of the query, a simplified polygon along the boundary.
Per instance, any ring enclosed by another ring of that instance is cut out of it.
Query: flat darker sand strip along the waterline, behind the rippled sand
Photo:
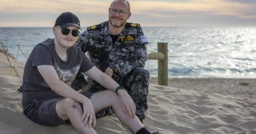
[[[158,78],[150,78],[150,83],[158,84]],[[169,78],[168,86],[256,99],[255,78]]]

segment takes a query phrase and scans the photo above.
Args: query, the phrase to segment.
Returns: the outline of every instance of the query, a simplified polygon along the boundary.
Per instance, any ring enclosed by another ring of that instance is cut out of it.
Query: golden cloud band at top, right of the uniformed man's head
[[[224,0],[193,0],[179,3],[134,1],[132,9],[135,13],[150,14],[154,17],[191,16],[192,14],[199,15],[198,12],[204,12],[204,14],[209,15],[236,16],[239,18],[256,17],[256,12],[253,11],[255,10],[255,5]]]

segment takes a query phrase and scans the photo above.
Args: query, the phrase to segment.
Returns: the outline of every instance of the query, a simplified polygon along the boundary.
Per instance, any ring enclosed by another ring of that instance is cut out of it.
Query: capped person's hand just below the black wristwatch
[[[131,99],[131,96],[125,90],[118,90],[117,92],[118,92],[119,97],[121,99],[121,104],[123,106],[123,111],[125,113],[128,112],[128,114],[131,116],[131,118],[134,118],[135,117],[136,106],[135,106],[135,103],[134,103],[133,99]]]

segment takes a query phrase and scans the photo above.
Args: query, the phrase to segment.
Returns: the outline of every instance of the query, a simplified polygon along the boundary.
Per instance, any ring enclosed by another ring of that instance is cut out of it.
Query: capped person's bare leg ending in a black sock
[[[91,97],[91,103],[93,103],[95,112],[98,112],[105,107],[111,106],[119,120],[128,126],[129,129],[133,131],[133,133],[136,133],[139,129],[144,127],[140,123],[140,120],[137,118],[137,116],[135,116],[135,118],[131,118],[128,113],[123,112],[123,107],[121,106],[121,100],[119,99],[119,96],[110,90],[94,93]]]

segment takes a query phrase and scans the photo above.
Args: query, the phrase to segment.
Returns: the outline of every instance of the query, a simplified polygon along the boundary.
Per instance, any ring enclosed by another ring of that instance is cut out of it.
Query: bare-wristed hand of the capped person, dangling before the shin
[[[84,126],[96,126],[95,110],[93,109],[93,104],[89,99],[83,102],[82,122]]]

